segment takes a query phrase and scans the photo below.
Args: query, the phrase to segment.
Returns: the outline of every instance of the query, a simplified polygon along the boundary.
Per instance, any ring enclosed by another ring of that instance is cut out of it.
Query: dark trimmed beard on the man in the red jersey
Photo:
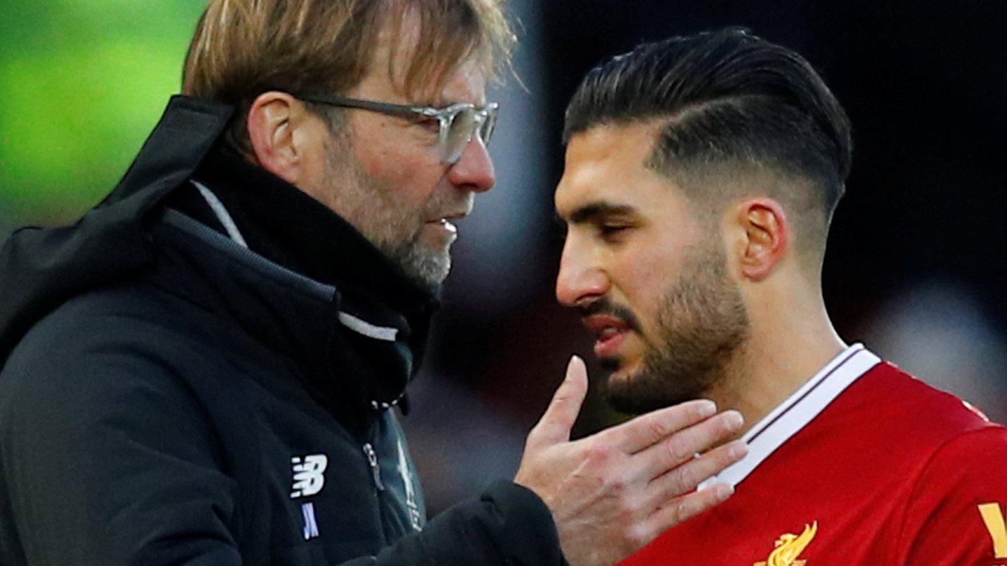
[[[658,311],[658,344],[650,344],[639,371],[606,382],[616,410],[641,414],[696,399],[723,379],[748,339],[741,292],[727,276],[723,242],[711,235],[683,264]],[[602,361],[617,366],[618,361]]]

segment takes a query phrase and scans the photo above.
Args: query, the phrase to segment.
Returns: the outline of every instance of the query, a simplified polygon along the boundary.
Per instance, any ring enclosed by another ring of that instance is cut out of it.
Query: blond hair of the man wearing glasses
[[[509,67],[515,35],[503,0],[211,0],[189,45],[182,94],[237,109],[231,138],[247,149],[245,119],[267,91],[341,93],[370,69],[379,32],[401,31],[407,15],[419,39],[405,69],[407,94],[443,87],[474,57],[488,79]],[[402,37],[394,33],[393,37]],[[391,63],[390,63],[391,64]],[[389,68],[391,77],[396,69]]]

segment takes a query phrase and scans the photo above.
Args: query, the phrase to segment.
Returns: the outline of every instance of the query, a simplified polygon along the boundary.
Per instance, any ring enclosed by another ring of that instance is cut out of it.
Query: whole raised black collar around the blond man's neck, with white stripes
[[[169,225],[241,266],[200,266],[215,294],[234,303],[229,315],[292,353],[320,392],[379,408],[402,398],[423,357],[435,292],[338,215],[225,147],[211,149],[165,205],[203,230],[170,213]],[[258,292],[265,279],[289,289]]]

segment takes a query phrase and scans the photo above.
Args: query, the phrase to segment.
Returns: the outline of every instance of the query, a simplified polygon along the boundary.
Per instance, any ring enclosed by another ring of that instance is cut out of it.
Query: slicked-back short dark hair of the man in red
[[[804,57],[740,28],[640,44],[584,78],[564,143],[595,126],[651,120],[665,124],[648,166],[672,178],[673,169],[750,166],[813,186],[802,208],[823,213],[814,216],[824,220],[815,223],[824,249],[853,143],[846,113]]]

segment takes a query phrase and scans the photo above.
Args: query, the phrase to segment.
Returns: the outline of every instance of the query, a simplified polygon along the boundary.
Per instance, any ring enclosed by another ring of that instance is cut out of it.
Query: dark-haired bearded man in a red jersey
[[[797,53],[739,30],[643,44],[567,110],[558,298],[638,413],[709,396],[753,423],[730,502],[632,565],[992,565],[1007,430],[847,345],[820,274],[847,117]]]

